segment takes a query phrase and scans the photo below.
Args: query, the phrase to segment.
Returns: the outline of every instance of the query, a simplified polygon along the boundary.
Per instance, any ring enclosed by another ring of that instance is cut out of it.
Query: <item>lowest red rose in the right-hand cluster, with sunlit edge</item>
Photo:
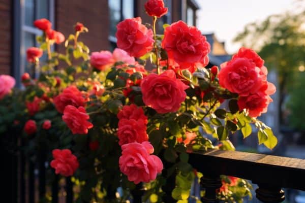
[[[258,117],[267,112],[272,99],[269,95],[276,92],[276,87],[272,83],[265,82],[261,89],[248,96],[240,96],[237,101],[239,111],[248,110],[250,117]]]

